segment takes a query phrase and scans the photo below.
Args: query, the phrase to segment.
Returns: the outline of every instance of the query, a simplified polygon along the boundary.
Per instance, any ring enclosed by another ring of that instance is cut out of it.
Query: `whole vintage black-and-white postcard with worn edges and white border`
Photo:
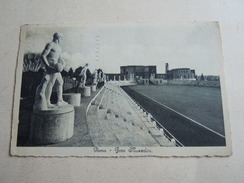
[[[24,25],[11,155],[229,156],[217,22]]]

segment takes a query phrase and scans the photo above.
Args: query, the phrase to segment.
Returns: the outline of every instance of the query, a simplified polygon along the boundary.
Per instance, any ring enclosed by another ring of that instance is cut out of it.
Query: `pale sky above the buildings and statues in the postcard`
[[[89,64],[93,72],[119,73],[120,66],[156,65],[158,73],[191,68],[197,75],[219,75],[222,62],[219,27],[214,22],[100,24],[27,27],[25,52],[41,53],[52,35],[60,43],[65,70]]]

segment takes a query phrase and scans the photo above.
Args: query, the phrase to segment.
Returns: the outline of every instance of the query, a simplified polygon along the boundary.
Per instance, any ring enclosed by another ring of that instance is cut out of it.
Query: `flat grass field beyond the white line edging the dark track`
[[[137,85],[130,88],[224,135],[219,88],[175,85]]]

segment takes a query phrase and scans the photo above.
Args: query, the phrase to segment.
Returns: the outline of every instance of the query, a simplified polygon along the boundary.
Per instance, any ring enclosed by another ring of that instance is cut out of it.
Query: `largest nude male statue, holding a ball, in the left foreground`
[[[55,82],[57,82],[57,106],[67,104],[63,101],[63,79],[60,73],[65,66],[59,45],[61,39],[62,35],[55,33],[53,35],[53,41],[46,45],[41,54],[42,61],[45,65],[45,72],[36,90],[34,110],[47,110],[48,108],[54,107],[50,102],[50,98]]]

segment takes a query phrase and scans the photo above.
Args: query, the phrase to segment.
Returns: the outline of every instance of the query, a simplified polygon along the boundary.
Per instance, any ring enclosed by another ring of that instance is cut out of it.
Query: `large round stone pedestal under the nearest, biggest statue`
[[[74,134],[74,107],[64,105],[43,111],[34,111],[31,116],[30,143],[52,144],[65,141]]]

